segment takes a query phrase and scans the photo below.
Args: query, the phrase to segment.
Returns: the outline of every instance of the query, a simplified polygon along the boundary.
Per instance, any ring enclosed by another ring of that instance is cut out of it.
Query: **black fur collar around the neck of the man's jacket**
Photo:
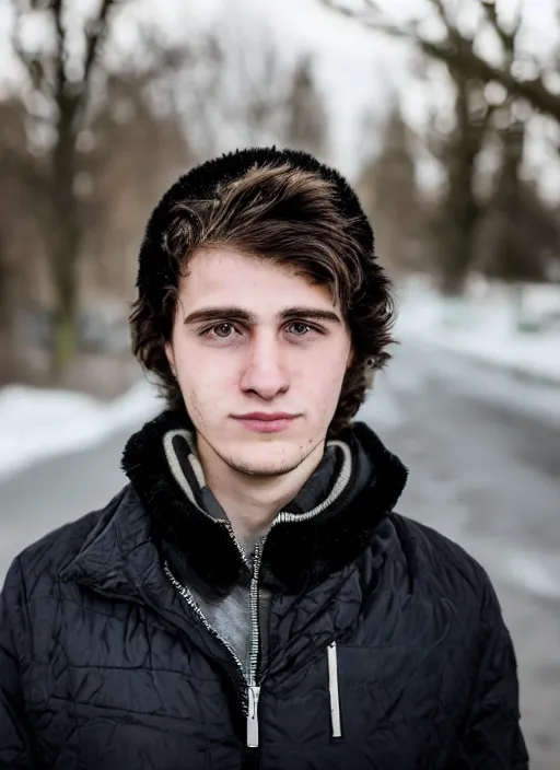
[[[228,523],[206,515],[170,469],[164,436],[185,428],[184,415],[176,412],[148,422],[126,445],[122,469],[175,574],[228,592],[247,565]],[[407,469],[370,428],[357,422],[340,439],[350,446],[353,468],[336,502],[314,517],[279,522],[268,534],[261,578],[273,590],[300,593],[347,567],[372,544],[402,492]]]

